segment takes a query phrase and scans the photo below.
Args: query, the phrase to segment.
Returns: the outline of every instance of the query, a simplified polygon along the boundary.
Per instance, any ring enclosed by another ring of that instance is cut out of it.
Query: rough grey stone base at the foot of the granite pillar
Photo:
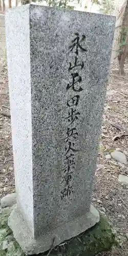
[[[41,237],[37,240],[32,238],[32,234],[17,208],[11,212],[8,225],[13,231],[14,238],[26,254],[38,254],[49,250],[54,238],[54,246],[56,246],[65,240],[76,237],[97,222],[99,222],[99,212],[91,205],[90,214],[87,216],[65,223],[49,233],[41,233]]]

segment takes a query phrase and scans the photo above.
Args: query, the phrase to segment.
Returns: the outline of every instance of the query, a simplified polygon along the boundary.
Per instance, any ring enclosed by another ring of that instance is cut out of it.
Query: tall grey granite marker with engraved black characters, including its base
[[[17,208],[28,254],[99,221],[91,206],[115,17],[38,5],[6,13]]]

